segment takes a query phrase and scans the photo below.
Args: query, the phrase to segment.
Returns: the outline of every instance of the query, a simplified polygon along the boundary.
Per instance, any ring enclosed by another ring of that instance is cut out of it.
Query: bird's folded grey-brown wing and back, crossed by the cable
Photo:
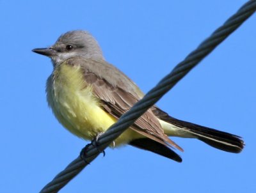
[[[77,63],[72,59],[73,62]],[[102,108],[115,118],[120,118],[140,100],[140,96],[136,93],[138,89],[136,84],[106,61],[80,58],[79,63],[83,69],[84,81],[92,86],[93,93],[100,99]],[[164,134],[157,117],[150,109],[138,118],[131,128],[158,143],[173,146],[182,151],[182,148]]]

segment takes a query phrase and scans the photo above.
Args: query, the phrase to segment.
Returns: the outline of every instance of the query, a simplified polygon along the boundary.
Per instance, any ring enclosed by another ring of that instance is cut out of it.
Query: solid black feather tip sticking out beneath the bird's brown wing
[[[164,146],[163,144],[158,143],[152,139],[149,139],[149,138],[134,139],[129,144],[131,146],[140,148],[142,150],[152,151],[154,153],[157,153],[158,155],[162,155],[164,157],[175,160],[176,162],[182,162],[182,159],[177,153],[175,153],[173,150],[171,150],[167,146]]]

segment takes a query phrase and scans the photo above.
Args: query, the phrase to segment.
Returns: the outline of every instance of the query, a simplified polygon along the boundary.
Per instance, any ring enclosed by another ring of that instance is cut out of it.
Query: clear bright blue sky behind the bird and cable
[[[245,2],[0,0],[0,192],[40,191],[87,144],[47,107],[52,65],[31,49],[88,30],[147,92]],[[107,149],[60,192],[255,192],[255,34],[253,15],[157,103],[175,118],[241,135],[242,153],[178,138],[182,164]]]

